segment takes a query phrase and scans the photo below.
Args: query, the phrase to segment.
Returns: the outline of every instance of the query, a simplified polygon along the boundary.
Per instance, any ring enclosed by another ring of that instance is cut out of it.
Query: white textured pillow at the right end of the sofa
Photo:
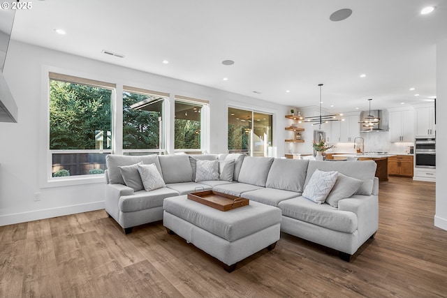
[[[310,177],[309,183],[305,187],[305,191],[302,196],[306,199],[322,204],[328,197],[330,190],[334,187],[337,181],[337,171],[323,172],[315,170],[312,177]]]

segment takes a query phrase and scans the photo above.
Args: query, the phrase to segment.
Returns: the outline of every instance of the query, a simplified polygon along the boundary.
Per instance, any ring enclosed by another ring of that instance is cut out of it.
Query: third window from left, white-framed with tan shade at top
[[[176,96],[174,119],[174,147],[175,151],[198,153],[205,150],[203,119],[206,114],[205,100],[186,99]]]

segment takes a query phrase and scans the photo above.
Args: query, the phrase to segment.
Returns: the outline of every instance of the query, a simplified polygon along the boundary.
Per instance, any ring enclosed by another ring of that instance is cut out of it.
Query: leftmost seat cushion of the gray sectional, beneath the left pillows
[[[173,189],[163,187],[154,191],[137,191],[133,195],[124,195],[119,198],[118,207],[122,212],[134,212],[163,206],[165,198],[178,196]]]

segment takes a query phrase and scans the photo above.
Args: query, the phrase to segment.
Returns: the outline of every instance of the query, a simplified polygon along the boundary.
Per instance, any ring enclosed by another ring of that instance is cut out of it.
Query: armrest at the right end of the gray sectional
[[[360,244],[379,229],[379,197],[377,195],[353,195],[339,200],[338,209],[357,215]]]

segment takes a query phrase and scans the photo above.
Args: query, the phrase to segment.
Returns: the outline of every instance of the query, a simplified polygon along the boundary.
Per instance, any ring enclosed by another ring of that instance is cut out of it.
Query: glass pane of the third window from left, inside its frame
[[[175,101],[175,149],[200,149],[203,105]]]

